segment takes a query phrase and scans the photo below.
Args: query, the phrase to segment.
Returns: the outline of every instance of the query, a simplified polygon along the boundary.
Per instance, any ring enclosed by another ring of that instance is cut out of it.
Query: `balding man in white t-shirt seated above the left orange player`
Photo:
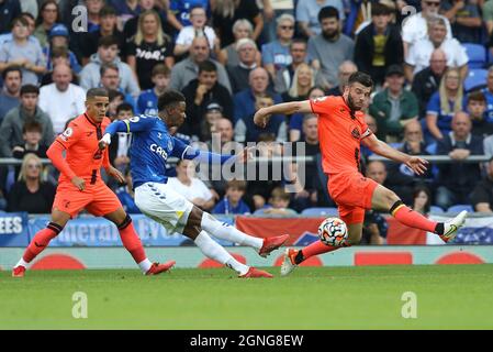
[[[60,64],[53,70],[53,84],[40,89],[40,108],[49,116],[56,134],[64,131],[69,118],[86,111],[86,92],[71,80],[70,67]]]

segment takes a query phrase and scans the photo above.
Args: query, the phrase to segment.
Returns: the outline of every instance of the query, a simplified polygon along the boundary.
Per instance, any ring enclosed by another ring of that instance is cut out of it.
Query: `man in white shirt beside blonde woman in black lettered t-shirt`
[[[200,4],[190,9],[190,25],[187,25],[180,30],[178,37],[175,42],[173,54],[176,56],[183,56],[189,53],[192,41],[195,36],[204,35],[208,38],[209,47],[211,51],[220,51],[219,38],[216,37],[214,30],[206,25],[208,14],[205,9]]]

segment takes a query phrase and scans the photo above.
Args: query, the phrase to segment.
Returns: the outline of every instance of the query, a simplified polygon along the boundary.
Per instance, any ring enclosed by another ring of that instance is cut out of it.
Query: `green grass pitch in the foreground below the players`
[[[492,329],[493,265],[0,272],[0,329]],[[88,318],[72,318],[75,292]],[[417,295],[404,319],[402,295]]]

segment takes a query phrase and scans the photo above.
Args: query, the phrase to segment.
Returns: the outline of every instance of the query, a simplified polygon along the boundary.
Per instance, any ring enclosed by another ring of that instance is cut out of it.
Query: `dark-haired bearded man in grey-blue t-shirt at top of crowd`
[[[318,13],[318,21],[322,33],[309,40],[309,56],[312,59],[312,67],[318,72],[316,84],[329,89],[339,84],[337,79],[339,65],[352,59],[355,42],[341,33],[339,12],[336,8],[323,8]]]

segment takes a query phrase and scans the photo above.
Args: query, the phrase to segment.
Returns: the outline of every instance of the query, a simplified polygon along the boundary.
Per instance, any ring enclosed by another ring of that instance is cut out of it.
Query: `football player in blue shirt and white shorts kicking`
[[[158,116],[139,116],[128,120],[114,121],[104,131],[100,148],[111,143],[116,132],[132,133],[131,173],[135,189],[135,204],[150,219],[163,224],[170,233],[183,233],[193,240],[208,257],[220,262],[238,273],[238,277],[272,277],[271,274],[236,261],[211,235],[248,245],[267,256],[289,239],[288,234],[270,238],[248,235],[225,224],[202,211],[168,184],[165,164],[169,156],[197,162],[221,163],[242,158],[246,162],[248,151],[238,155],[221,155],[203,152],[184,144],[169,134],[169,129],[180,127],[186,119],[186,100],[181,92],[168,90],[158,99]]]

